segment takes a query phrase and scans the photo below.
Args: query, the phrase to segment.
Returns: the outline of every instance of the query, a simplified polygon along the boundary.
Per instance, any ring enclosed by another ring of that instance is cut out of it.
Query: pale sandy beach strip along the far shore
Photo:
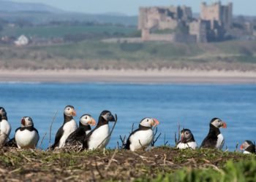
[[[1,70],[0,82],[256,84],[253,71]]]

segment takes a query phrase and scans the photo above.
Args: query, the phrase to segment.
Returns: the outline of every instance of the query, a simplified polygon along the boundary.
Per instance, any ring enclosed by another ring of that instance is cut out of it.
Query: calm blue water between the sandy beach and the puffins
[[[138,127],[146,116],[159,119],[162,136],[156,145],[164,143],[165,134],[173,146],[178,123],[192,130],[200,144],[213,117],[227,122],[227,129],[221,132],[230,151],[237,142],[256,139],[256,85],[0,83],[0,106],[7,110],[12,124],[11,137],[20,126],[20,118],[31,116],[40,141],[47,132],[44,149],[48,146],[53,116],[58,111],[52,141],[68,104],[75,106],[77,122],[82,114],[91,114],[97,120],[105,109],[118,115],[110,148],[117,145],[119,135],[129,134],[132,123]]]

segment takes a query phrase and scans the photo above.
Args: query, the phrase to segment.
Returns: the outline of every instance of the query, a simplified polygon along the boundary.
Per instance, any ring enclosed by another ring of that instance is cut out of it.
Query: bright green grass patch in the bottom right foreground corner
[[[224,181],[256,181],[256,160],[233,162],[228,161],[225,167],[219,169],[218,167],[193,169],[191,167],[184,167],[181,170],[177,170],[174,173],[160,174],[157,178],[138,178],[136,181],[155,181],[155,182],[201,182],[201,181],[212,181],[212,182],[224,182]]]

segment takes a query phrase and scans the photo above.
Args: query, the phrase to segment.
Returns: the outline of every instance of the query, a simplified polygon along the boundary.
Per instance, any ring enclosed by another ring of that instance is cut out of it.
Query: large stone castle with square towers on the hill
[[[201,4],[200,17],[190,7],[140,7],[143,41],[208,42],[225,39],[233,24],[233,4]]]

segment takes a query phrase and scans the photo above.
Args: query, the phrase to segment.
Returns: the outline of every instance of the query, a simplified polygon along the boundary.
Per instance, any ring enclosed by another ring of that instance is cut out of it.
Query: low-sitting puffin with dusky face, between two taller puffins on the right
[[[181,141],[178,142],[177,149],[196,149],[197,143],[195,142],[194,135],[189,129],[181,130]]]

